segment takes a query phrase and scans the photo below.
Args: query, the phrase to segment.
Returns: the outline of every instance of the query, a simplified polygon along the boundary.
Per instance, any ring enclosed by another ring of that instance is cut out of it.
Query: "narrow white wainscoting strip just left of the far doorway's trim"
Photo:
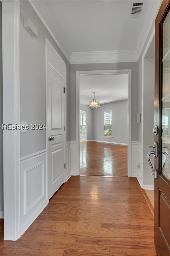
[[[77,158],[77,148],[76,141],[71,141],[70,143],[71,150],[71,175],[79,175],[79,159]]]

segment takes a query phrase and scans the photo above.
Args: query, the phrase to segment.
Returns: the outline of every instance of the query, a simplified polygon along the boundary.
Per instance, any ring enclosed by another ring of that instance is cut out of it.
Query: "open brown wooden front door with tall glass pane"
[[[155,20],[155,125],[155,247],[159,256],[170,256],[170,1],[162,2]]]

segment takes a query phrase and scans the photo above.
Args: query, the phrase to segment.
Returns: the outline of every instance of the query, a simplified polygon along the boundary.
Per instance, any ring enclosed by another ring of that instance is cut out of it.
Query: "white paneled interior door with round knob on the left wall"
[[[47,48],[47,58],[48,198],[51,198],[64,183],[65,72],[63,64],[50,47]]]

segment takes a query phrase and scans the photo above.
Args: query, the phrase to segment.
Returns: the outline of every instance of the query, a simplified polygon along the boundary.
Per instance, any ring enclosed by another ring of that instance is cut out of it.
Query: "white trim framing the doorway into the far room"
[[[131,177],[131,69],[76,71],[76,155],[75,175],[80,175],[80,74],[128,75],[128,177]]]

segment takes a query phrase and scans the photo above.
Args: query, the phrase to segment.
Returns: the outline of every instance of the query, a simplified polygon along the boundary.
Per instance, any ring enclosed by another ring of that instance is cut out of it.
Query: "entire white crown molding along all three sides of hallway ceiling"
[[[148,15],[142,32],[139,36],[136,50],[114,50],[114,51],[94,51],[94,52],[72,52],[69,46],[64,42],[56,24],[48,12],[44,1],[29,0],[30,4],[38,14],[42,23],[63,52],[70,64],[85,64],[85,63],[117,63],[117,62],[137,62],[147,36],[151,29],[151,25],[156,18],[162,0],[151,1],[151,12]],[[57,39],[56,39],[57,38]]]

